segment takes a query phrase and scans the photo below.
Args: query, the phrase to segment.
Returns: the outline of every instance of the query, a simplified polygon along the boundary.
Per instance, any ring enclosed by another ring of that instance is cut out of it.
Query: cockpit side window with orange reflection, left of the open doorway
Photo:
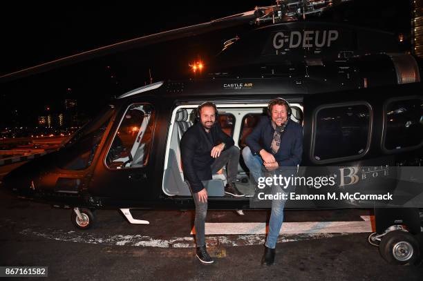
[[[138,168],[149,162],[155,113],[151,104],[132,104],[122,117],[106,156],[111,169]]]

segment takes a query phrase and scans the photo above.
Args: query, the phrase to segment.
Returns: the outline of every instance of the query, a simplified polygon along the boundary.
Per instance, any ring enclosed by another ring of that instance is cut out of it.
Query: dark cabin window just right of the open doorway
[[[370,106],[326,106],[314,115],[314,160],[360,157],[370,144]]]

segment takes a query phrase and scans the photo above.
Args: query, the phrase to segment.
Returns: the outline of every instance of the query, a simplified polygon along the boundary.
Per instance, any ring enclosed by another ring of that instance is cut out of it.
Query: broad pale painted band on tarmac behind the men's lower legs
[[[355,222],[283,222],[281,234],[372,232],[369,220]],[[191,234],[194,229],[191,230]],[[265,222],[206,222],[206,235],[265,234]]]

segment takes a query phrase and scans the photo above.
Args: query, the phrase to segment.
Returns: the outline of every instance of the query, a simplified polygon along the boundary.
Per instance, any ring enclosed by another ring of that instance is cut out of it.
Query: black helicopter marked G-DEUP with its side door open
[[[116,97],[59,150],[8,173],[1,189],[70,208],[71,220],[79,229],[93,226],[97,209],[120,209],[130,223],[149,224],[133,218],[131,209],[194,209],[179,142],[194,124],[200,104],[216,104],[218,126],[243,148],[268,102],[282,97],[290,104],[291,121],[303,126],[301,166],[308,173],[336,171],[338,179],[350,179],[338,182],[339,187],[361,184],[362,190],[395,191],[392,177],[380,182],[375,178],[380,180],[389,167],[422,166],[422,66],[419,59],[398,50],[390,32],[305,20],[334,3],[276,1],[274,6],[3,75],[1,81],[8,81],[193,32],[255,25],[244,37],[226,41],[202,75],[158,81]],[[342,168],[330,170],[330,166]],[[379,169],[361,171],[363,167]],[[237,184],[245,193],[252,192],[248,174],[241,159]],[[251,197],[224,196],[225,181],[223,169],[205,183],[209,209],[254,209]],[[357,207],[356,201],[348,198],[342,205],[323,207]],[[321,207],[307,202],[286,206]],[[419,258],[421,207],[418,203],[408,208],[375,207],[376,232],[369,242],[379,246],[388,262],[411,264]]]

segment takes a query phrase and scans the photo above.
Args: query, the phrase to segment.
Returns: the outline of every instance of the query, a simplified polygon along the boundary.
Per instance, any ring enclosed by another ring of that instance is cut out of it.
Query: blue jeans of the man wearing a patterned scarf
[[[245,146],[243,149],[243,159],[245,165],[247,165],[248,169],[250,170],[250,175],[252,175],[256,183],[259,182],[259,177],[263,177],[265,174],[263,159],[261,159],[261,156],[252,155],[250,148]],[[281,186],[272,186],[272,194],[277,194],[279,192],[284,192]],[[274,249],[276,247],[279,231],[281,231],[282,227],[283,207],[285,206],[285,202],[286,200],[272,200],[272,213],[270,214],[269,233],[267,233],[267,239],[265,242],[265,246],[268,248]]]

